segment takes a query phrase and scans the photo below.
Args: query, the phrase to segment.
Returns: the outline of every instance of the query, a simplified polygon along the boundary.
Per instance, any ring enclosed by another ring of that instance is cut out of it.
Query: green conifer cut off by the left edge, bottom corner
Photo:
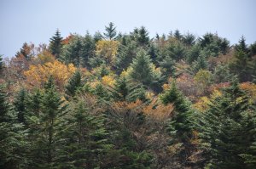
[[[3,85],[0,85],[0,168],[26,168],[24,135],[20,124],[15,121]]]

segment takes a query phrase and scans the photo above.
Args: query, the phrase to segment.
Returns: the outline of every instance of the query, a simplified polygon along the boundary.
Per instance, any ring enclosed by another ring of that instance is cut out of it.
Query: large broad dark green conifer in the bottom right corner
[[[249,145],[255,141],[255,115],[247,112],[247,94],[239,88],[237,80],[224,88],[221,96],[212,99],[209,106],[200,127],[201,138],[209,150],[205,155],[207,161],[212,168],[251,168],[241,155],[249,152]]]

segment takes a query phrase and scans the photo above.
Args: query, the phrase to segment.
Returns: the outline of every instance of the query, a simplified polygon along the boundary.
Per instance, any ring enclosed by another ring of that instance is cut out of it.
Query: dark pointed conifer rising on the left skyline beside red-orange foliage
[[[62,37],[61,32],[57,29],[55,35],[49,39],[49,51],[55,55],[56,59],[59,59],[62,48]]]

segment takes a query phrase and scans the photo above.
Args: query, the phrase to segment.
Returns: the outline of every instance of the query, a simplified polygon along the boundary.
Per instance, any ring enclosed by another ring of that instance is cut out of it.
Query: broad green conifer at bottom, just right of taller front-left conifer
[[[113,145],[108,143],[108,131],[102,115],[90,113],[86,102],[80,100],[73,105],[68,118],[67,141],[58,150],[58,168],[102,168]]]

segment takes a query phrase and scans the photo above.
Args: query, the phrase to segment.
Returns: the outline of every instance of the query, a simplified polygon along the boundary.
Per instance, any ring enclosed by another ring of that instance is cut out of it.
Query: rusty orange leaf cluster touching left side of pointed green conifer
[[[172,115],[173,105],[172,104],[160,104],[157,99],[153,99],[152,102],[143,107],[143,113],[149,115],[152,118],[164,121]]]

